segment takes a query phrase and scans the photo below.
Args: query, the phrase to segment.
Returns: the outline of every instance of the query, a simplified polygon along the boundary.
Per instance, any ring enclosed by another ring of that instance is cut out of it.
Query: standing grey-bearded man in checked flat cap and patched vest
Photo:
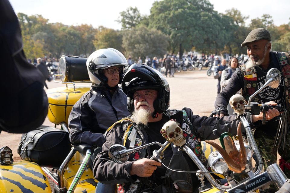
[[[290,65],[289,54],[285,52],[275,52],[271,50],[271,34],[268,30],[258,28],[249,33],[241,45],[247,47],[249,56],[248,62],[241,65],[232,75],[229,84],[218,94],[215,101],[215,108],[218,109],[213,115],[222,117],[227,114],[227,104],[232,95],[242,89],[241,95],[247,101],[249,96],[255,93],[266,82],[266,74],[271,68],[279,69],[282,80],[277,88],[266,87],[262,92],[257,94],[251,102],[266,103],[274,101],[274,105],[284,106],[287,111],[290,110]],[[289,94],[289,95],[288,95]],[[288,113],[289,115],[290,113]],[[263,116],[263,113],[255,116]],[[289,117],[288,122],[290,121]],[[265,118],[264,118],[265,119]],[[290,178],[290,148],[289,138],[287,138],[286,147],[283,148],[274,144],[279,125],[280,116],[272,120],[264,120],[250,123],[256,128],[255,138],[258,144],[265,168],[276,163],[277,151],[281,156],[280,167]],[[289,124],[288,124],[289,125]],[[288,129],[289,131],[289,129]]]

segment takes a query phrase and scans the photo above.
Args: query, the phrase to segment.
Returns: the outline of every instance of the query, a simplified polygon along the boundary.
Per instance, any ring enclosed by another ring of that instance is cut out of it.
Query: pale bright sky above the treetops
[[[50,23],[92,24],[95,28],[102,25],[119,30],[121,24],[115,20],[121,11],[136,6],[142,15],[149,15],[153,2],[154,0],[10,0],[15,13],[41,14],[49,19]],[[210,0],[210,2],[218,13],[237,8],[244,16],[250,16],[246,24],[263,14],[271,15],[277,26],[289,22],[289,0]]]

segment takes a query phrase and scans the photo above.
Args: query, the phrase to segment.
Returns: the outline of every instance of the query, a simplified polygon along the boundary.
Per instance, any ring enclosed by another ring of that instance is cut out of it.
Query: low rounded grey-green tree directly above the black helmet
[[[156,29],[148,29],[139,26],[131,30],[125,30],[123,34],[123,47],[126,55],[131,55],[134,60],[140,56],[151,59],[154,56],[163,57],[168,48],[168,36]]]

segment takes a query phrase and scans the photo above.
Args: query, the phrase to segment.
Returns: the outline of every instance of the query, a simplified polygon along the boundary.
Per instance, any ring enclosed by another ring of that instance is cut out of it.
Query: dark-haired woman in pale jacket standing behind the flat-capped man
[[[230,77],[232,77],[232,75],[236,71],[236,68],[238,67],[238,65],[239,65],[238,59],[236,57],[233,57],[229,61],[229,67],[227,67],[226,69],[224,69],[222,71],[221,83],[220,83],[222,90],[229,83]],[[238,91],[236,94],[239,94],[239,93],[240,93],[240,91]],[[229,115],[232,115],[234,112],[234,109],[230,106],[230,104],[227,105],[227,110],[228,110]]]

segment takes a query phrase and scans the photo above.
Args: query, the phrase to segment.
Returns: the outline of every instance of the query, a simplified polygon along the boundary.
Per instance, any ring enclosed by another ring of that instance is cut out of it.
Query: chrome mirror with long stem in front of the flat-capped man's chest
[[[281,82],[280,71],[277,68],[271,68],[266,75],[266,83],[249,97],[248,105],[250,105],[253,97],[256,96],[265,87],[270,86],[272,88],[277,88],[280,82]]]

